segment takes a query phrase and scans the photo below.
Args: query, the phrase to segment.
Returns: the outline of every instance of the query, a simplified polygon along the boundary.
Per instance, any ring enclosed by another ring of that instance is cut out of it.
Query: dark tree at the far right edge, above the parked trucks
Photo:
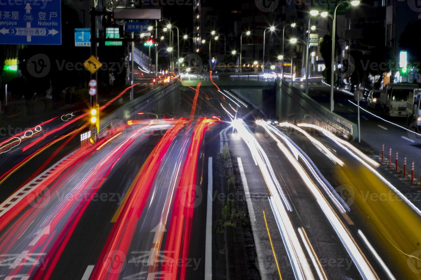
[[[402,50],[408,51],[409,58],[415,63],[414,66],[421,69],[421,36],[418,36],[421,30],[421,20],[413,21],[409,23],[405,30],[402,32],[399,38],[399,46]]]

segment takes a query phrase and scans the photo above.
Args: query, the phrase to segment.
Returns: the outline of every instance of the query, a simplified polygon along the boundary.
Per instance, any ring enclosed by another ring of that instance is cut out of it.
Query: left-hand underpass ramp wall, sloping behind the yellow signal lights
[[[142,108],[146,107],[149,102],[159,100],[169,92],[179,89],[179,86],[179,81],[173,80],[169,84],[153,89],[151,92],[126,103],[125,105],[112,111],[112,113],[109,113],[104,118],[101,118],[99,120],[100,130],[98,138],[107,135],[106,133],[109,129],[114,128],[116,125],[125,123],[125,121],[129,118],[133,118],[136,115],[135,112],[142,110]]]

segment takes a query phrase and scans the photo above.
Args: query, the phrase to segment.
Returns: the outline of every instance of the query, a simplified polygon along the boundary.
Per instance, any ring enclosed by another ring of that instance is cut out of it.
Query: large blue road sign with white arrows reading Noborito
[[[0,44],[61,45],[61,1],[1,1]]]

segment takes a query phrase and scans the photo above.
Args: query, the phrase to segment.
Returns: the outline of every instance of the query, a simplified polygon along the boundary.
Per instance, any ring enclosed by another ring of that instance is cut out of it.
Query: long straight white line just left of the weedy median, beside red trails
[[[206,206],[205,280],[212,280],[212,157],[208,160],[208,202]]]

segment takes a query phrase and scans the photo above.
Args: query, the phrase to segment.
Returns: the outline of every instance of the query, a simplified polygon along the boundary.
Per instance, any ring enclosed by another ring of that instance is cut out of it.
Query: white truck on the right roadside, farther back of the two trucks
[[[381,115],[386,117],[406,117],[406,101],[418,84],[386,84],[380,94]]]

